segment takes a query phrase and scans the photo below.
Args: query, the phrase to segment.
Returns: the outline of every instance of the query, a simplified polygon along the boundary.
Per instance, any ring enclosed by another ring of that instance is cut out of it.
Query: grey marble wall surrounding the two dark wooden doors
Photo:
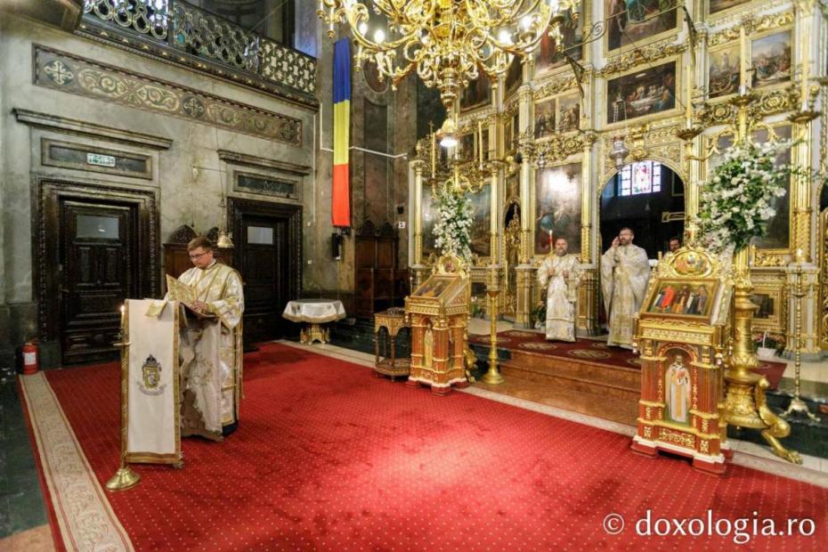
[[[317,35],[321,37],[321,32]],[[36,85],[32,66],[35,45],[295,118],[302,126],[301,145]],[[323,55],[326,51],[329,52],[327,44],[322,46]],[[320,70],[321,98],[329,98],[330,95],[329,69],[329,61],[323,61]],[[223,218],[220,201],[225,190],[239,198],[279,201],[259,194],[232,191],[231,175],[227,165],[219,158],[218,150],[305,166],[309,168],[309,175],[304,177],[301,197],[303,221],[309,231],[304,232],[304,263],[310,263],[306,264],[307,268],[314,264],[323,266],[323,261],[329,258],[328,248],[317,247],[320,237],[330,232],[330,205],[329,201],[325,201],[327,193],[322,191],[323,183],[330,182],[330,166],[329,159],[318,157],[319,113],[316,110],[7,13],[0,20],[0,74],[4,76],[0,81],[0,167],[3,174],[0,180],[0,364],[10,362],[10,351],[26,337],[37,334],[37,297],[33,293],[32,195],[34,183],[39,177],[153,189],[159,199],[159,230],[163,243],[184,223],[193,223],[197,231],[207,231],[220,225]],[[45,128],[21,121],[15,112],[49,116],[62,121],[58,126],[65,126],[66,120],[74,119],[92,128],[101,126],[110,130],[102,130],[101,136],[94,136],[94,131],[90,134],[68,128]],[[123,141],[112,137],[117,132],[124,133],[126,137]],[[132,141],[130,134],[150,136],[150,142],[166,141],[169,145],[167,148],[144,148],[141,140]],[[43,138],[149,155],[153,159],[152,178],[138,180],[45,166],[40,158]],[[315,173],[317,168],[320,168],[318,175]],[[331,275],[330,271],[307,270],[303,277],[305,288],[336,288],[337,285],[336,274]]]

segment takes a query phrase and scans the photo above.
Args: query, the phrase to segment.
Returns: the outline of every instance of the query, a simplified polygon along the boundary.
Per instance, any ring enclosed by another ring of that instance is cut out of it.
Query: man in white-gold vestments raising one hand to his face
[[[601,257],[601,290],[609,321],[607,345],[632,348],[633,317],[644,303],[650,263],[643,248],[633,245],[635,234],[622,228]]]

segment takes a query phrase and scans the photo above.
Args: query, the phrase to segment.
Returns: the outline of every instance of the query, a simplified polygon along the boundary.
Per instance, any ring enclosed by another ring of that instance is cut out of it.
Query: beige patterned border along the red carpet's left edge
[[[44,373],[21,376],[20,387],[63,545],[133,550]]]

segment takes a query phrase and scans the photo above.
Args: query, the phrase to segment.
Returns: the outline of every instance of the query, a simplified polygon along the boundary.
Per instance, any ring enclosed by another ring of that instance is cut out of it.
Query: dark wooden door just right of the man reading
[[[281,313],[288,301],[295,298],[288,296],[288,219],[244,215],[240,242],[245,340],[283,337]]]

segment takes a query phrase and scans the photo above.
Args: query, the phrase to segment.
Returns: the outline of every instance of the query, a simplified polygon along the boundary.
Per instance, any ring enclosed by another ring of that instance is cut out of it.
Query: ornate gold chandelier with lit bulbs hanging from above
[[[318,14],[330,37],[347,21],[357,70],[373,61],[380,80],[390,78],[395,89],[416,69],[451,109],[461,88],[481,73],[492,80],[503,75],[550,25],[559,44],[564,12],[575,4],[580,0],[320,0]]]

